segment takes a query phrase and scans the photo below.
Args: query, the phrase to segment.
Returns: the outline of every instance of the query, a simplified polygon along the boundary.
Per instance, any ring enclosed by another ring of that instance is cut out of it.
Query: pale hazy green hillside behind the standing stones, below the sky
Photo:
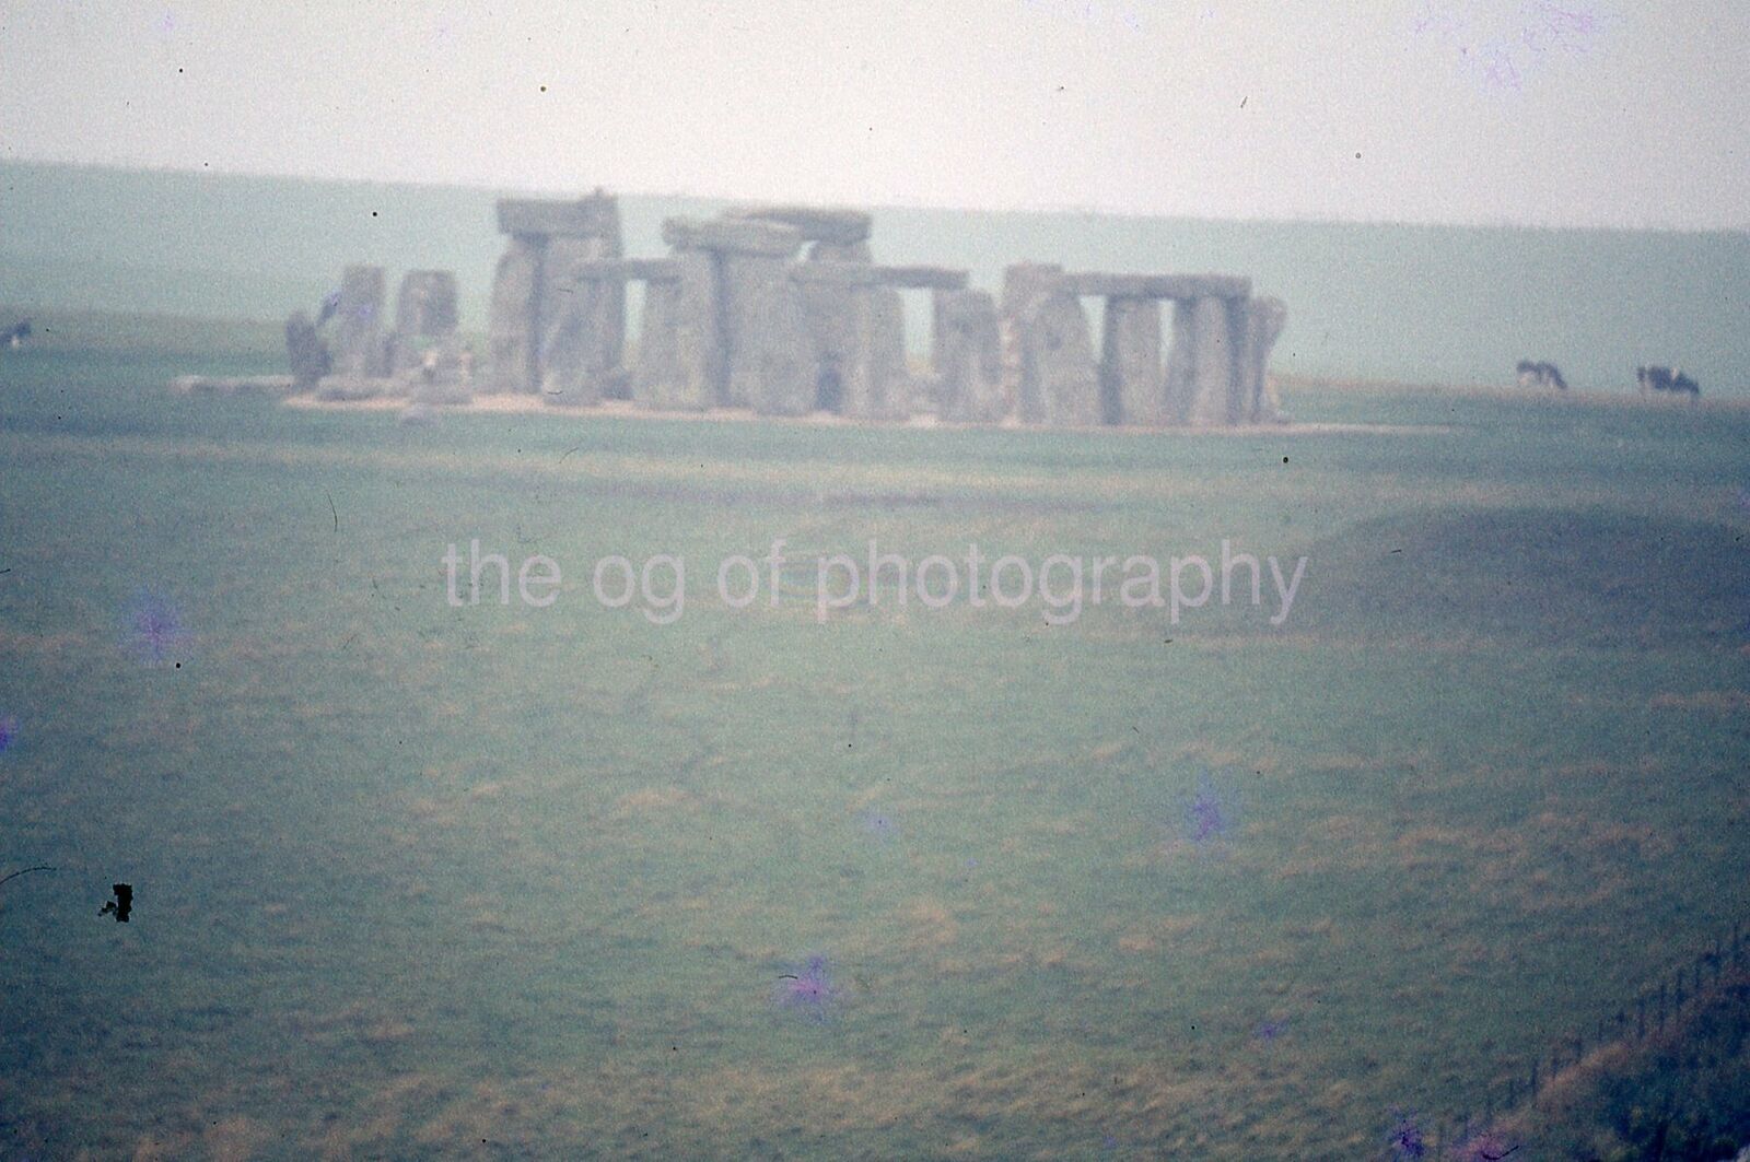
[[[518,192],[518,191],[504,191]],[[583,191],[578,191],[583,192]],[[464,326],[485,326],[499,191],[294,177],[0,163],[0,298],[9,306],[282,320],[345,262],[455,270]],[[728,200],[621,194],[628,254],[662,219]],[[1381,222],[1241,222],[1092,212],[875,206],[886,262],[971,270],[1001,289],[1024,259],[1111,271],[1234,271],[1288,303],[1290,374],[1510,383],[1519,359],[1577,388],[1633,390],[1680,364],[1710,396],[1750,394],[1750,234]],[[928,346],[924,296],[908,310]],[[635,312],[634,312],[635,317]],[[1096,326],[1099,324],[1094,318]]]

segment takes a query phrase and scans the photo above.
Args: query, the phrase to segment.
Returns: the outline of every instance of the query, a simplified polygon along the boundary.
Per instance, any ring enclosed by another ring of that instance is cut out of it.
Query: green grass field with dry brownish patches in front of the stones
[[[1743,410],[416,429],[0,355],[0,873],[61,868],[0,887],[4,1158],[1382,1157],[1745,914]],[[1281,626],[714,593],[872,536],[1309,564]],[[452,607],[471,537],[558,600]]]

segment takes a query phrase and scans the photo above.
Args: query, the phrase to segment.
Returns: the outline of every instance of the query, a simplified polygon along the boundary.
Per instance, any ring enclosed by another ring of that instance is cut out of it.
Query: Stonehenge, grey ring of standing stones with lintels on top
[[[863,210],[752,205],[670,217],[665,257],[625,257],[618,201],[497,203],[481,390],[656,411],[746,408],[905,422],[1218,427],[1279,422],[1269,359],[1288,312],[1232,275],[1017,262],[1001,299],[968,271],[878,264]],[[642,284],[628,360],[626,285]],[[929,290],[929,369],[906,359],[901,290]],[[1104,299],[1099,345],[1083,299]],[[383,329],[378,266],[348,266],[322,320],[285,324],[292,382],[340,397],[466,399],[448,271],[408,271]],[[1162,312],[1171,304],[1171,317]],[[392,376],[392,378],[390,378]],[[399,382],[401,383],[397,387]]]

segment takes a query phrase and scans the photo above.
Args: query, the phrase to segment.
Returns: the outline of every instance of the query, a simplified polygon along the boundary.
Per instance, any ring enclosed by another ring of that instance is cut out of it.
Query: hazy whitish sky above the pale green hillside
[[[0,156],[1745,228],[1746,46],[1743,0],[0,0]]]

